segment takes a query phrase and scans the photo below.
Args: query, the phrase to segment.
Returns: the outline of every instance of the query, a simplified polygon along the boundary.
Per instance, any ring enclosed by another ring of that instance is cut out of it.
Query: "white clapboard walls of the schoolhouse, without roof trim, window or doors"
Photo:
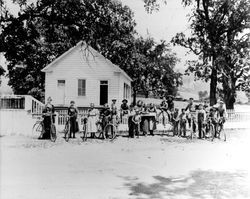
[[[78,96],[78,79],[86,80],[86,96]],[[65,80],[64,103],[58,80]],[[91,102],[99,105],[101,80],[108,81],[108,102],[116,98],[121,103],[123,84],[130,85],[130,80],[99,53],[88,53],[76,46],[46,72],[45,97],[51,96],[55,105],[68,106],[71,100],[78,106],[89,106]]]

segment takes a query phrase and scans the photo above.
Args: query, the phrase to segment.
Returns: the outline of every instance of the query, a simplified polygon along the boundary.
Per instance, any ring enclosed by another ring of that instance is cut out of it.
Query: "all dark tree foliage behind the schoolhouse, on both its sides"
[[[16,94],[43,98],[41,69],[80,40],[124,69],[134,80],[135,92],[151,89],[159,94],[160,88],[174,94],[180,83],[180,75],[173,71],[176,56],[164,42],[138,37],[132,11],[118,1],[14,2],[22,9],[17,17],[1,19],[0,51],[8,61],[9,85]]]

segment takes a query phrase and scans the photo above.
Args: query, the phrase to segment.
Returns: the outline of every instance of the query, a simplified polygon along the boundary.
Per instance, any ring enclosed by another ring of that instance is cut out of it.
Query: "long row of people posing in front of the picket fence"
[[[51,98],[49,98],[44,115],[46,112],[54,112],[51,101]],[[75,106],[75,102],[71,101],[68,108],[68,121],[70,122],[69,138],[75,138],[75,133],[79,131],[77,115],[78,109]],[[128,119],[130,137],[139,136],[141,132],[143,135],[154,135],[158,118],[162,117],[164,126],[167,123],[172,123],[174,135],[185,137],[187,126],[189,126],[193,132],[196,132],[196,129],[198,129],[199,138],[204,138],[203,128],[207,118],[212,121],[216,129],[219,122],[222,125],[225,122],[226,109],[223,101],[220,101],[217,107],[209,107],[206,102],[197,106],[194,104],[193,98],[190,98],[187,107],[179,111],[178,108],[174,108],[173,96],[168,96],[167,100],[163,98],[158,107],[152,103],[146,105],[141,100],[135,106],[129,106],[128,101],[124,99],[118,108],[116,99],[113,99],[110,106],[105,104],[100,111],[95,108],[93,103],[90,104],[87,115],[83,119],[84,130],[90,133],[91,137],[95,137],[98,125],[101,126],[102,130],[108,123],[112,123],[117,127],[124,117]],[[45,115],[45,129],[49,127],[47,120],[51,121]],[[54,122],[54,119],[52,122]]]

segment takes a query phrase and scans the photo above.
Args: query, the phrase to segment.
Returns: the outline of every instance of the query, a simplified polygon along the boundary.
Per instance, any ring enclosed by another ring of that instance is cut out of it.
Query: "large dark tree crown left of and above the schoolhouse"
[[[135,22],[130,9],[115,1],[39,0],[1,25],[9,84],[16,94],[36,93],[41,99],[43,67],[80,40],[110,58],[115,43],[134,34]]]

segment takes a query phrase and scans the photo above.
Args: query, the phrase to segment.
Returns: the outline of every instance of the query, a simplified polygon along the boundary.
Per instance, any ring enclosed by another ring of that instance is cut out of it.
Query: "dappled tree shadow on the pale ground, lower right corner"
[[[124,177],[125,186],[133,198],[194,198],[225,199],[250,198],[243,172],[216,172],[197,170],[184,178],[154,176],[155,182],[146,184],[137,178]]]

